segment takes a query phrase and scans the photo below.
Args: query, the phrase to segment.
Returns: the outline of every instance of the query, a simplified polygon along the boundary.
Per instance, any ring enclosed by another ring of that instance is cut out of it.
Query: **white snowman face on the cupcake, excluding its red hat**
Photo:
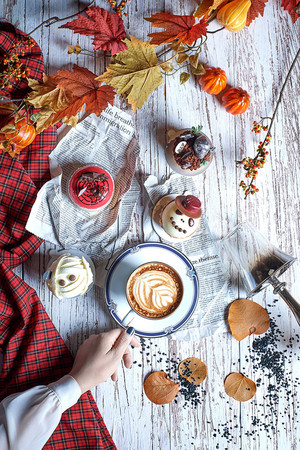
[[[176,211],[178,211],[178,208],[175,200],[172,200],[163,209],[161,226],[169,236],[177,239],[188,238],[197,231],[200,225],[200,218],[190,219],[185,214],[177,214]]]

